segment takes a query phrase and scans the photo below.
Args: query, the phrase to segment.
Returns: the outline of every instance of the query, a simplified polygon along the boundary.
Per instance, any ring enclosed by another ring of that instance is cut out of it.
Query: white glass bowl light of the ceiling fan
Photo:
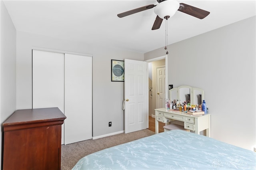
[[[154,12],[160,18],[164,19],[165,16],[172,17],[175,12],[180,8],[180,3],[175,0],[165,0],[159,3],[155,8]]]

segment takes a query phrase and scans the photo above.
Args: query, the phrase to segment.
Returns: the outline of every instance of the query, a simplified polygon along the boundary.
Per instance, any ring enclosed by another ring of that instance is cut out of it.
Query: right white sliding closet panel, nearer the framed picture
[[[64,143],[92,138],[92,57],[65,54]]]

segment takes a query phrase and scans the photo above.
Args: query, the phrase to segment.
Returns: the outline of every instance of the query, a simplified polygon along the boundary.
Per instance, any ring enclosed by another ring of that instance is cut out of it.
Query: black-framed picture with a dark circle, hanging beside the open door
[[[111,81],[124,81],[124,61],[111,59]]]

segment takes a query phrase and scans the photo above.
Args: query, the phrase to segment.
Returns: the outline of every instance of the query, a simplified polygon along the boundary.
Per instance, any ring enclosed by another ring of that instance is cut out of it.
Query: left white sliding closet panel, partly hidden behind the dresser
[[[46,107],[58,107],[64,113],[64,54],[32,50],[32,108]]]

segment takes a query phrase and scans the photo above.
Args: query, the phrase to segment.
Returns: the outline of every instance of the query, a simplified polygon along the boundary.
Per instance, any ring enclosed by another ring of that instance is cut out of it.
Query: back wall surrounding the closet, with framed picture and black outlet
[[[92,47],[81,42],[69,42],[46,36],[17,32],[17,109],[32,108],[32,48],[92,54],[93,136],[124,130],[124,82],[111,82],[111,59],[143,60],[142,53],[106,47]],[[68,119],[68,118],[67,118]],[[90,121],[90,120],[85,120]],[[108,122],[112,127],[108,127]]]

